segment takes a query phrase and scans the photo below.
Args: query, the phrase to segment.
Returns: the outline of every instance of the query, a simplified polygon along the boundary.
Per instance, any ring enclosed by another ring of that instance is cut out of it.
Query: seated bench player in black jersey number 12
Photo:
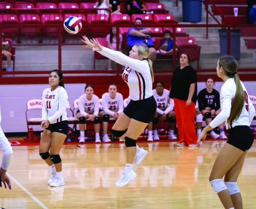
[[[202,115],[205,117],[205,123],[209,125],[212,121],[213,116],[217,116],[220,113],[220,94],[217,90],[213,89],[215,84],[212,78],[206,80],[206,88],[199,91],[198,93],[198,108]],[[211,135],[213,139],[221,138],[227,139],[224,132],[224,123],[219,125],[220,135],[216,134],[213,129],[211,130]],[[201,130],[197,130],[200,134]]]

